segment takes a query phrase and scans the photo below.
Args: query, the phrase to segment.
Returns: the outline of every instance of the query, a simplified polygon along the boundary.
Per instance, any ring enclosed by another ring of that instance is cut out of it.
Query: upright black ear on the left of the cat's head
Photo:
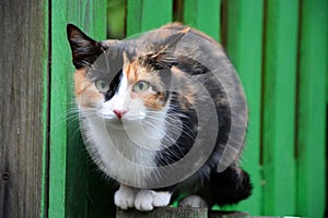
[[[90,38],[73,24],[67,25],[67,37],[75,69],[90,66],[104,52],[101,43]]]

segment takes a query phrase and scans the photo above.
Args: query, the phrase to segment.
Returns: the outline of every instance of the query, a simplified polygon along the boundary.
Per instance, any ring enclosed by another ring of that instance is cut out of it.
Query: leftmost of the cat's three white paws
[[[129,186],[120,185],[114,195],[115,205],[121,209],[134,206],[136,191]]]

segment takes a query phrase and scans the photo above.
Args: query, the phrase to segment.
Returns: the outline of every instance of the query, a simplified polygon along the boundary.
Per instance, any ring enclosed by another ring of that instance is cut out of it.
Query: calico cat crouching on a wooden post
[[[247,104],[219,44],[174,23],[96,41],[67,26],[86,148],[119,182],[115,204],[152,210],[235,204],[251,184],[238,167]]]

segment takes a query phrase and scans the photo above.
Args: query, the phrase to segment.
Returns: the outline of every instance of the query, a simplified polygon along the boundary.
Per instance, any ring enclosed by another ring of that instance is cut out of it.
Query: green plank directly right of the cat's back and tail
[[[249,172],[254,192],[237,209],[251,215],[261,213],[261,167],[260,167],[260,107],[261,107],[261,58],[263,1],[227,1],[227,53],[235,65],[245,88],[249,125],[246,147],[242,158],[243,167]]]

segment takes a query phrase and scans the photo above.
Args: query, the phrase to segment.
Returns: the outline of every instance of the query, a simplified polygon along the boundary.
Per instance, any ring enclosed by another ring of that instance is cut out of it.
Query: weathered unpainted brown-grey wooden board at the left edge
[[[0,217],[38,217],[46,137],[46,1],[0,5]]]

